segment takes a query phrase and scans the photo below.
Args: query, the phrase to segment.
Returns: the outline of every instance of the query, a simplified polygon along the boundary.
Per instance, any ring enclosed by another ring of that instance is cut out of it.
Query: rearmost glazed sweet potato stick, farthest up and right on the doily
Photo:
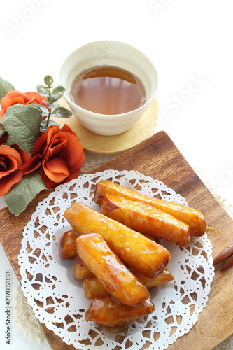
[[[136,200],[150,204],[151,206],[174,216],[178,220],[187,223],[190,227],[190,235],[202,236],[206,231],[206,222],[203,214],[191,207],[143,195],[136,190],[125,188],[108,180],[99,181],[95,188],[94,202],[101,204],[106,194],[120,195],[129,200]]]

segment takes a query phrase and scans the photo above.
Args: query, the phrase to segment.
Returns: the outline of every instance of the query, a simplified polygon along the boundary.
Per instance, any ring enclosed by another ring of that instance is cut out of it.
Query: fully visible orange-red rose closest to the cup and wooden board
[[[68,125],[59,129],[51,125],[34,144],[34,151],[23,169],[32,172],[40,169],[47,188],[75,179],[84,162],[83,146]],[[26,170],[27,168],[27,170]]]

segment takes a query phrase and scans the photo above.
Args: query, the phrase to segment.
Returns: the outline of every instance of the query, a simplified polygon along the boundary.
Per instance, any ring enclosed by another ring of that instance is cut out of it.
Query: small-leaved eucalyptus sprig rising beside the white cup
[[[44,82],[45,85],[36,86],[38,94],[47,97],[48,99],[48,102],[45,102],[45,105],[48,107],[48,109],[46,109],[44,106],[40,106],[42,117],[46,117],[46,120],[43,120],[41,123],[41,131],[43,132],[48,129],[49,125],[55,124],[52,122],[52,120],[50,120],[51,116],[57,118],[70,118],[72,116],[71,111],[65,109],[62,106],[59,106],[59,104],[56,103],[63,96],[66,89],[61,85],[53,87],[53,78],[49,75],[45,76]]]

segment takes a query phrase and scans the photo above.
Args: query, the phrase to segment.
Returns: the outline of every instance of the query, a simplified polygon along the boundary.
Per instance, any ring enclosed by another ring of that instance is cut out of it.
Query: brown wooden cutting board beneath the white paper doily
[[[97,170],[103,171],[105,169],[139,171],[146,176],[152,176],[154,179],[163,181],[167,186],[173,188],[176,193],[180,193],[185,197],[191,207],[203,212],[207,225],[213,227],[213,230],[209,231],[209,239],[213,245],[213,257],[222,251],[225,246],[232,243],[232,219],[204,186],[204,183],[165,132],[153,135],[153,137],[143,141]],[[10,214],[7,208],[0,211],[1,243],[19,280],[20,272],[17,255],[21,248],[24,225],[30,220],[38,202],[47,197],[49,193],[49,191],[45,191],[38,195],[29,204],[27,210],[18,217]],[[211,350],[232,334],[232,268],[220,272],[219,267],[217,267],[206,308],[199,314],[198,321],[190,332],[178,338],[175,344],[169,346],[169,350]],[[42,324],[42,327],[52,349],[74,349],[73,346],[64,344],[45,325]]]

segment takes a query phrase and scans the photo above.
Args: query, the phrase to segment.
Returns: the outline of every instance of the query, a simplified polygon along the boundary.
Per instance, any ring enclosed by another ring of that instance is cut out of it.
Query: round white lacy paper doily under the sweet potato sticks
[[[70,229],[64,211],[80,201],[99,210],[93,202],[95,183],[111,180],[153,195],[188,205],[185,199],[161,181],[139,172],[108,170],[84,174],[60,185],[36,207],[25,226],[19,255],[22,291],[36,318],[66,344],[76,349],[167,349],[178,337],[189,332],[208,300],[213,280],[212,247],[207,235],[193,237],[190,248],[162,241],[171,253],[169,270],[174,281],[151,290],[155,311],[111,334],[93,322],[85,321],[90,306],[82,283],[73,276],[73,261],[59,258],[59,239]]]

